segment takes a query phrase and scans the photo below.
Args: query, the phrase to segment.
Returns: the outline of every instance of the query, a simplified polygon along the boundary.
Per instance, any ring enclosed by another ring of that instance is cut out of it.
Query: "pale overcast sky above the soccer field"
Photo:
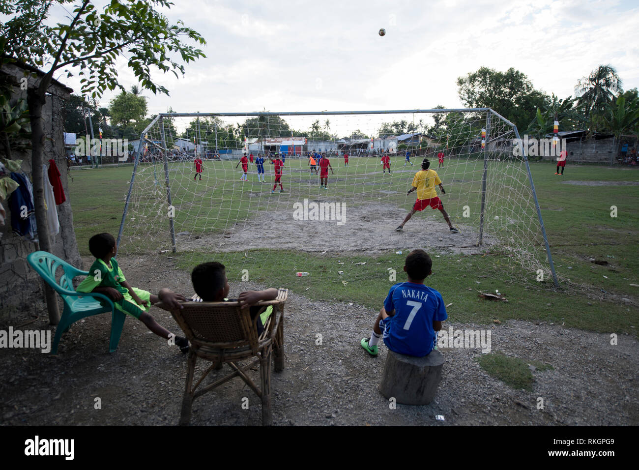
[[[514,67],[562,98],[599,64],[617,68],[624,89],[639,86],[635,1],[174,3],[167,17],[206,38],[206,58],[180,79],[156,74],[171,95],[145,91],[150,113],[461,107],[457,77],[482,66]],[[56,6],[52,19],[65,14]],[[127,90],[137,84],[119,70]],[[75,77],[59,79],[79,92]]]

